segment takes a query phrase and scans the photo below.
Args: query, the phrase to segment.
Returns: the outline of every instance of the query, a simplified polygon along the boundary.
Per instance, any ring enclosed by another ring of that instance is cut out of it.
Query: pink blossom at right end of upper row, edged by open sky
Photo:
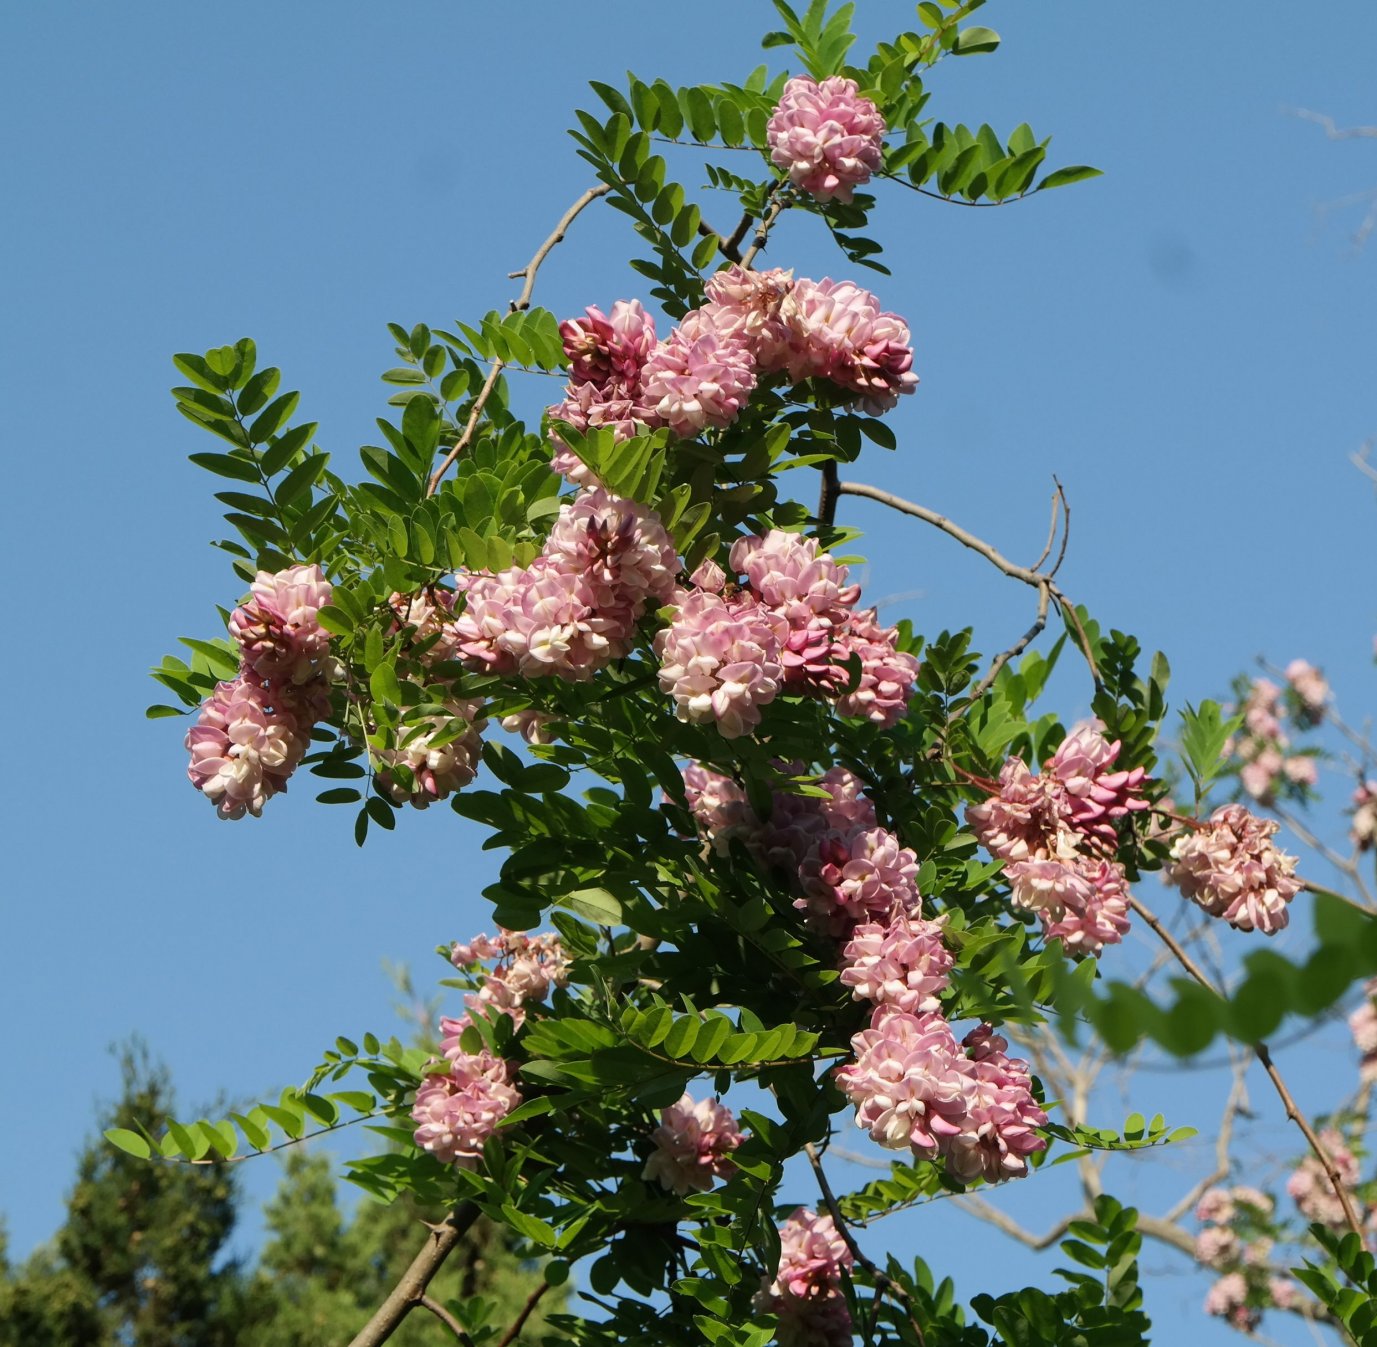
[[[856,405],[873,416],[918,386],[907,324],[852,281],[796,281],[779,315],[789,332],[786,368],[796,383],[826,379],[855,393]]]

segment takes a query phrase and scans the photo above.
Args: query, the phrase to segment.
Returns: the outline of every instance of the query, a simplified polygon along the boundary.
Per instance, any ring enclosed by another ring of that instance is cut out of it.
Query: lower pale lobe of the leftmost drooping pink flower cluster
[[[220,818],[263,813],[286,789],[308,745],[302,723],[273,705],[274,694],[246,678],[218,683],[187,731],[187,777]]]

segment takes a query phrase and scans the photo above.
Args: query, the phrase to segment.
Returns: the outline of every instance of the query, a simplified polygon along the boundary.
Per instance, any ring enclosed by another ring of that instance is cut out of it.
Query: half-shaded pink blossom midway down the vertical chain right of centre
[[[800,866],[795,906],[834,934],[870,916],[916,908],[918,858],[887,828],[834,832]]]

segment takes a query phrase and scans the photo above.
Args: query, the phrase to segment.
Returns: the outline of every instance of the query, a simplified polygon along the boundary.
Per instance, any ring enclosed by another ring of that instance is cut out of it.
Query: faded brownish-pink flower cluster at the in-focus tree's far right
[[[1289,920],[1287,904],[1303,884],[1296,858],[1271,843],[1276,824],[1242,804],[1223,804],[1208,822],[1172,847],[1169,883],[1210,916],[1239,931],[1272,935]]]

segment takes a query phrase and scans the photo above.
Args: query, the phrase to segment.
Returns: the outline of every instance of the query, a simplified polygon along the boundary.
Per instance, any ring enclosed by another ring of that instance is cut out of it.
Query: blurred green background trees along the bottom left
[[[102,1127],[165,1125],[175,1106],[167,1070],[139,1045],[121,1050],[120,1066],[120,1099]],[[368,1200],[347,1215],[329,1158],[302,1150],[285,1154],[256,1267],[223,1256],[240,1212],[233,1165],[146,1164],[92,1140],[48,1245],[14,1266],[0,1230],[0,1347],[336,1347],[412,1260],[420,1222],[442,1215]],[[514,1322],[544,1282],[511,1246],[479,1223],[431,1296],[464,1322]],[[518,1341],[538,1340],[563,1299],[551,1288]],[[394,1337],[399,1347],[452,1340],[430,1315]]]

